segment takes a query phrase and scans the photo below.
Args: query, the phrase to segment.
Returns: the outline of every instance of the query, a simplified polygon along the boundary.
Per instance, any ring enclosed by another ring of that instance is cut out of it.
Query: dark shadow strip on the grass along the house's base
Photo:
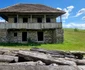
[[[40,46],[40,43],[0,43],[0,46],[9,46],[9,47],[16,47],[16,46]]]

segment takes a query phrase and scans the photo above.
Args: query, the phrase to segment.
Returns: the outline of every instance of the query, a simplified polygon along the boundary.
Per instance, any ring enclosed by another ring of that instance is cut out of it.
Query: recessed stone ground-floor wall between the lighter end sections
[[[37,32],[40,30],[13,30],[8,31],[8,40],[9,42],[18,42],[22,43],[22,32],[27,32],[27,39],[30,39],[33,42],[39,42],[37,37]],[[43,32],[43,42],[41,43],[52,43],[53,42],[53,31],[54,30],[41,30]],[[14,33],[17,33],[17,36],[14,37]]]

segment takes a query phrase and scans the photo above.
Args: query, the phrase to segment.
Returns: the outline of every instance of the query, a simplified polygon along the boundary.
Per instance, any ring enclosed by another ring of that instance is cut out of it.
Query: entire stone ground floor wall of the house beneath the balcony
[[[63,29],[50,30],[0,30],[0,42],[23,43],[22,32],[27,32],[27,41],[39,42],[37,32],[43,32],[43,41],[40,43],[62,43]],[[17,36],[14,36],[17,33]]]

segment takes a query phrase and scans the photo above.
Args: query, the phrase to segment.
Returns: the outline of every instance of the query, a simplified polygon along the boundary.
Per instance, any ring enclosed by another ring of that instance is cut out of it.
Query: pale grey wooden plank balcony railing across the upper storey
[[[0,29],[54,29],[62,23],[0,23]]]

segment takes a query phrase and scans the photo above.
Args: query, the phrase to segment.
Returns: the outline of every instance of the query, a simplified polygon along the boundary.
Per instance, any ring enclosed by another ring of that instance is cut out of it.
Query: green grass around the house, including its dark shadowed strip
[[[85,30],[64,29],[64,43],[62,44],[0,44],[0,48],[29,49],[32,47],[49,50],[85,51]]]

